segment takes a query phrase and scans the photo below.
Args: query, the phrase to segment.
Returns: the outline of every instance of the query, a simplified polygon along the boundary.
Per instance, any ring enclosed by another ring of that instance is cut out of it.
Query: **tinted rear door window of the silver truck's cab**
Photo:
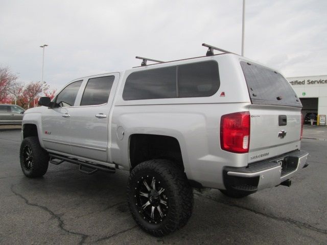
[[[83,93],[81,106],[107,103],[113,80],[114,76],[89,79]]]

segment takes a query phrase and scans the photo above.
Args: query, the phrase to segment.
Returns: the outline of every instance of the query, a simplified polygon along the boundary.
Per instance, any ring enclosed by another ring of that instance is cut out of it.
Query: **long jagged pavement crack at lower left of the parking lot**
[[[84,241],[86,240],[86,238],[89,236],[89,235],[86,235],[86,234],[83,234],[83,233],[78,233],[78,232],[74,232],[74,231],[69,231],[68,229],[66,229],[64,226],[64,222],[63,220],[61,219],[61,217],[58,215],[58,214],[55,214],[53,211],[51,211],[49,208],[45,207],[45,206],[42,206],[42,205],[39,205],[37,203],[31,203],[26,197],[24,197],[22,194],[18,193],[16,190],[14,190],[14,185],[11,185],[10,187],[11,191],[19,198],[21,198],[22,200],[25,201],[25,203],[29,206],[33,206],[33,207],[37,207],[37,208],[40,208],[46,212],[48,212],[53,218],[57,219],[58,221],[58,227],[68,233],[68,234],[72,234],[72,235],[79,235],[79,236],[82,236],[82,239],[80,241],[80,244],[83,244]]]

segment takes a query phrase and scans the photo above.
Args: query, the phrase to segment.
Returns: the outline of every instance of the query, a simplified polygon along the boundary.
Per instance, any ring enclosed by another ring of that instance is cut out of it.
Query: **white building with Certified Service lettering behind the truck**
[[[326,125],[327,75],[287,78],[302,103],[302,114],[317,113],[320,125]],[[320,116],[321,115],[321,116]]]

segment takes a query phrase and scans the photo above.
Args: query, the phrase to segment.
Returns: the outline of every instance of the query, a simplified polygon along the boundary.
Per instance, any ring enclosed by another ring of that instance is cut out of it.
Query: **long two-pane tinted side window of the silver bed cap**
[[[206,61],[134,72],[126,79],[123,99],[211,96],[219,86],[217,62]]]

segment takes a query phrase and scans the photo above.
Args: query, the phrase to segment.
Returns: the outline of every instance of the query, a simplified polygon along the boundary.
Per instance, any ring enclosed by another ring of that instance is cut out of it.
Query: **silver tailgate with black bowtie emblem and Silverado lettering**
[[[301,108],[251,105],[249,163],[300,148]]]

